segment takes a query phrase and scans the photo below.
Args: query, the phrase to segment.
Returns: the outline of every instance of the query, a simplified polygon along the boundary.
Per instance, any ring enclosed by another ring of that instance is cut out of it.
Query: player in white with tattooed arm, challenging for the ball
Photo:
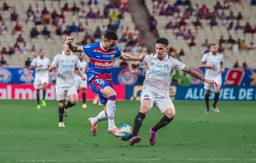
[[[143,119],[153,106],[157,107],[164,114],[164,117],[149,130],[149,143],[151,145],[156,142],[156,132],[174,119],[175,107],[169,96],[170,82],[174,70],[182,70],[208,84],[217,84],[215,81],[205,79],[201,74],[188,68],[177,59],[168,56],[168,44],[169,42],[166,38],[159,38],[156,41],[155,54],[147,55],[142,62],[134,63],[130,66],[131,73],[137,75],[140,74],[140,70],[136,69],[136,67],[147,66],[146,79],[141,93],[140,112],[134,120],[132,138],[129,140],[130,146],[141,141],[138,132],[142,126]]]

